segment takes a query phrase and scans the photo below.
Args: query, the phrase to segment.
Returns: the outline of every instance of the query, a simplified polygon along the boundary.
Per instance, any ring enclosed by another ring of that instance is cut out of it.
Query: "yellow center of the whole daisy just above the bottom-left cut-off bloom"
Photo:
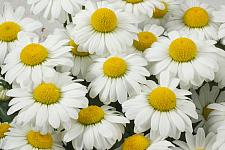
[[[60,96],[59,88],[52,83],[41,83],[33,91],[35,101],[45,105],[57,103]]]

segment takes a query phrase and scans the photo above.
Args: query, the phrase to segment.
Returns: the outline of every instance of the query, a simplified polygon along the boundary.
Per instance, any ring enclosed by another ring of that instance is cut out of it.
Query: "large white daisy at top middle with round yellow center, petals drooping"
[[[106,1],[87,2],[86,9],[74,18],[77,43],[97,55],[118,54],[131,46],[139,21]]]

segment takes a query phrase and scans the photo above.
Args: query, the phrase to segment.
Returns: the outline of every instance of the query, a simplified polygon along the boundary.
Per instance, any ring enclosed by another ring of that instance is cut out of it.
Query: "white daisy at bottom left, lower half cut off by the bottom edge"
[[[4,150],[64,150],[57,131],[42,134],[30,125],[13,125],[6,135]]]

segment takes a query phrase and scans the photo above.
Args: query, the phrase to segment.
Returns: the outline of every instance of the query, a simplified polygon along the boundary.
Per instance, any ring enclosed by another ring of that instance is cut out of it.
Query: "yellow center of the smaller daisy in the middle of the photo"
[[[122,77],[127,71],[127,63],[120,57],[111,57],[103,64],[104,75],[110,78]]]

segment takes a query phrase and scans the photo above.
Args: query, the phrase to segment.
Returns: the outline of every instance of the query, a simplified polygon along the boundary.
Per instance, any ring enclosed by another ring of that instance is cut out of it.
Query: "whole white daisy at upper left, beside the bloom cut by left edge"
[[[72,61],[66,56],[70,51],[69,46],[64,46],[67,42],[56,35],[49,35],[40,42],[38,38],[20,32],[16,48],[7,55],[2,67],[2,74],[6,73],[5,80],[10,84],[13,81],[39,83],[44,77],[54,74],[55,66],[72,66]]]

